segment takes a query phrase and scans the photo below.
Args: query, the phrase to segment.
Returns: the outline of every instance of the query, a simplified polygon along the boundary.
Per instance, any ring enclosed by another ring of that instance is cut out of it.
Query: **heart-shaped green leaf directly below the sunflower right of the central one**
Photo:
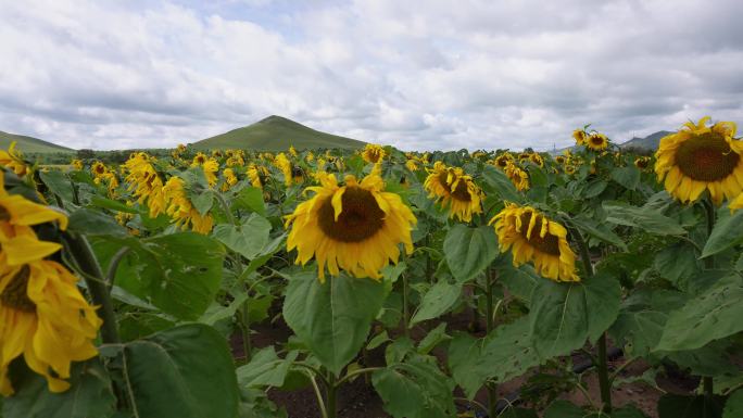
[[[457,224],[446,233],[443,251],[454,278],[465,282],[482,273],[498,256],[495,231],[488,226],[468,228]]]

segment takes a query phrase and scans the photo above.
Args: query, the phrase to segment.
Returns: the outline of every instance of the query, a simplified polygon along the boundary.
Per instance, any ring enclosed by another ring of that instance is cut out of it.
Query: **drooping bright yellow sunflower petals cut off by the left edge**
[[[93,340],[101,320],[77,289],[77,278],[43,259],[62,245],[38,240],[32,229],[52,220],[64,229],[67,218],[8,194],[2,185],[0,172],[0,394],[13,394],[8,367],[21,355],[50,391],[63,392],[71,363],[98,354]]]

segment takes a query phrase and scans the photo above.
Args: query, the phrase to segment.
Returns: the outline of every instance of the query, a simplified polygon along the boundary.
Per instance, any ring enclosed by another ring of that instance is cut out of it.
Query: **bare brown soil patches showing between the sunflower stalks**
[[[470,329],[471,332],[471,321],[466,315],[454,315],[448,318],[442,318],[449,324],[449,331],[453,330],[465,330]],[[291,330],[284,324],[284,321],[278,320],[276,324],[262,324],[253,327],[253,346],[256,349],[265,347],[277,342],[286,342],[291,335]],[[419,328],[413,331],[412,337],[415,340],[421,339],[426,334],[427,330]],[[474,332],[476,335],[481,337],[482,331]],[[236,358],[242,357],[242,341],[240,335],[235,335],[232,339],[234,355]],[[441,347],[437,349],[432,353],[442,360],[445,360],[445,351]],[[581,354],[574,355],[574,363],[580,360]],[[368,352],[366,356],[365,367],[383,366],[383,346],[375,351]],[[626,359],[624,357],[618,357],[609,363],[609,372],[616,370],[617,367],[621,366]],[[445,364],[445,362],[444,362]],[[625,368],[620,373],[621,378],[639,377],[650,366],[643,362],[635,362],[629,367]],[[528,375],[528,373],[527,373]],[[514,380],[504,382],[499,385],[498,394],[501,398],[513,397],[515,393],[521,388],[526,381],[527,376],[516,378]],[[583,375],[583,383],[587,388],[587,392],[594,404],[600,402],[600,391],[599,391],[599,379],[594,370],[588,370]],[[663,391],[672,393],[690,393],[693,391],[698,381],[690,379],[684,376],[673,376],[673,377],[663,377],[658,378],[657,387]],[[645,415],[651,418],[657,418],[657,413],[655,410],[658,398],[663,395],[663,392],[644,382],[633,382],[625,384],[613,392],[613,401],[615,406],[622,406],[627,404],[633,404],[640,408]],[[461,395],[461,394],[459,394]],[[290,418],[320,418],[319,409],[317,407],[317,401],[315,398],[315,393],[311,388],[294,390],[294,391],[280,391],[270,390],[268,392],[268,397],[276,403],[276,405],[284,407]],[[561,398],[568,400],[578,405],[590,405],[585,395],[576,390],[570,393],[565,393]],[[475,397],[480,404],[487,405],[487,392],[484,390],[480,391]],[[528,405],[524,405],[528,406]],[[467,410],[475,410],[471,405],[467,405],[465,402],[457,402],[457,407],[459,411],[464,413]],[[486,417],[483,413],[478,411],[478,417]],[[390,417],[382,407],[382,402],[375,392],[372,383],[367,381],[364,377],[360,377],[354,381],[343,385],[338,393],[338,417],[339,418],[387,418]]]

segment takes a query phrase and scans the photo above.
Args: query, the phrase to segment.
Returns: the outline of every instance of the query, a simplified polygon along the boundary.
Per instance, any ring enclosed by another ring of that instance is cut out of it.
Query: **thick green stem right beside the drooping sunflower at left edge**
[[[116,327],[116,314],[113,309],[113,302],[109,293],[103,270],[101,269],[96,254],[90,248],[90,243],[85,236],[66,232],[64,240],[67,242],[70,252],[80,267],[86,273],[83,275],[85,283],[88,287],[90,296],[96,305],[100,306],[96,313],[103,320],[101,326],[101,341],[104,344],[118,344],[118,329]]]

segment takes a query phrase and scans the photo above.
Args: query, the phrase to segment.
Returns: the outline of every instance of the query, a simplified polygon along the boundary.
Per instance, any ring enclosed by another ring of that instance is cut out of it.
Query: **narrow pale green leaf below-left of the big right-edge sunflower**
[[[635,227],[660,236],[687,233],[678,221],[659,214],[652,207],[630,206],[621,202],[604,202],[602,206],[606,212],[606,220],[612,224]]]

